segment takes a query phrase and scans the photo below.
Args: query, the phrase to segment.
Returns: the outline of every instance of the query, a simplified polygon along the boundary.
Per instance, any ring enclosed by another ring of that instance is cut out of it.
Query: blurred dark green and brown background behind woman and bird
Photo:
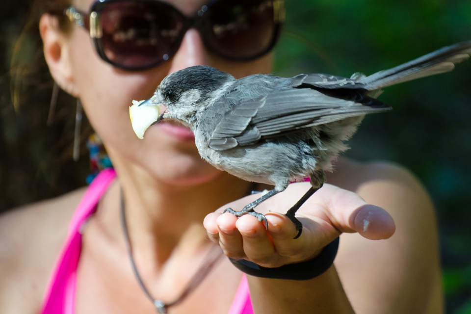
[[[89,171],[84,149],[78,163],[71,160],[73,99],[60,94],[52,128],[48,79],[24,84],[27,97],[20,96],[34,101],[23,101],[19,112],[10,101],[10,57],[28,6],[2,0],[0,12],[0,211],[82,186]],[[286,7],[279,76],[368,75],[471,40],[470,0],[287,0]],[[42,53],[36,48],[20,58],[34,59]],[[41,71],[48,78],[44,64]],[[419,177],[438,210],[446,313],[471,314],[471,60],[389,87],[380,100],[394,110],[366,117],[346,155],[392,160]]]

